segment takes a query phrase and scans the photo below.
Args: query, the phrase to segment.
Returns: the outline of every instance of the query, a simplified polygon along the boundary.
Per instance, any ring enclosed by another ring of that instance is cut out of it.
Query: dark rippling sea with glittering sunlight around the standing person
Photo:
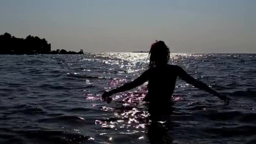
[[[172,53],[231,100],[178,80],[171,122],[154,125],[147,83],[101,100],[148,63],[147,53],[0,55],[0,144],[256,144],[256,54]]]

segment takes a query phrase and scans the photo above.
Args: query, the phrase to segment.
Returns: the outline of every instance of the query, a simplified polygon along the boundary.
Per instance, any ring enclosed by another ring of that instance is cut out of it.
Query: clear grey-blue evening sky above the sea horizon
[[[256,0],[0,0],[0,34],[52,50],[256,53]]]

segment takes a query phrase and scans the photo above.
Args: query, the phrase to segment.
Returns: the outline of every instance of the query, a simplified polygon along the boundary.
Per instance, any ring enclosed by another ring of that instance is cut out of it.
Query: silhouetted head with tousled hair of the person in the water
[[[170,59],[170,50],[165,42],[156,40],[149,51],[149,69],[157,65],[167,64]]]

